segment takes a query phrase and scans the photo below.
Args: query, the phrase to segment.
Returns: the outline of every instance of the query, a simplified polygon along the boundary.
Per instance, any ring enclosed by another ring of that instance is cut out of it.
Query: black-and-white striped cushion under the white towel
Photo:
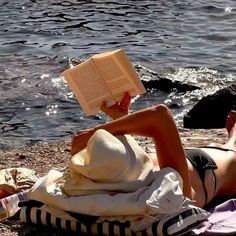
[[[209,216],[205,210],[197,207],[189,207],[180,213],[165,216],[154,222],[151,227],[133,232],[130,230],[130,222],[118,221],[102,223],[81,223],[70,214],[43,205],[42,207],[22,207],[20,219],[24,222],[45,225],[61,230],[74,231],[80,235],[118,235],[118,236],[150,236],[150,235],[182,235],[194,229],[200,222]]]

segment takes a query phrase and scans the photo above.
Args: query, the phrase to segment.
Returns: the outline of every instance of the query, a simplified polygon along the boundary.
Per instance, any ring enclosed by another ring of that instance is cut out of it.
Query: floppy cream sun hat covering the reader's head
[[[80,190],[133,191],[147,183],[152,170],[152,161],[134,138],[99,129],[87,147],[71,158],[64,190],[69,195]]]

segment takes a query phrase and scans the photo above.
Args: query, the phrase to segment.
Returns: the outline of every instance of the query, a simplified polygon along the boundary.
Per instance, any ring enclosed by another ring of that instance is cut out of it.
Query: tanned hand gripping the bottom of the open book
[[[131,102],[131,96],[128,92],[125,93],[124,97],[120,102],[117,102],[113,106],[107,107],[104,102],[101,106],[101,111],[109,115],[113,120],[129,114],[129,106]]]

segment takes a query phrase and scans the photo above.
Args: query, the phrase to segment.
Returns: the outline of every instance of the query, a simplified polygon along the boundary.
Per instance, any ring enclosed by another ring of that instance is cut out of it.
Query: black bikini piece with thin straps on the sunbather
[[[217,169],[215,161],[203,150],[200,148],[185,149],[186,158],[191,162],[193,167],[198,172],[198,175],[202,181],[204,193],[205,193],[205,205],[208,200],[208,194],[205,186],[205,174],[206,170],[212,170],[215,182],[214,193],[216,191],[216,176],[214,170]]]

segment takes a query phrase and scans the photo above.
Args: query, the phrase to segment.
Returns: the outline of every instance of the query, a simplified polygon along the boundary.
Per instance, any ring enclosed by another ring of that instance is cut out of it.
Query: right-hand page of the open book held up
[[[123,50],[113,53],[104,53],[103,56],[92,57],[95,64],[106,81],[114,100],[120,101],[125,92],[131,96],[143,94],[145,88],[140,81],[129,59]]]

